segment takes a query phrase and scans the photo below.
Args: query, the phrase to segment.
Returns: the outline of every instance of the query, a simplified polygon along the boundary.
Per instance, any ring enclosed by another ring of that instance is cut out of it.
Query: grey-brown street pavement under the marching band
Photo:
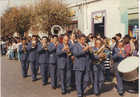
[[[76,88],[71,89],[70,94],[61,95],[61,89],[52,90],[51,85],[42,86],[40,71],[37,81],[32,82],[31,70],[28,70],[27,78],[22,78],[21,64],[15,60],[8,60],[7,56],[1,57],[1,97],[77,97]],[[116,80],[104,82],[101,88],[100,97],[120,97],[115,90]],[[50,82],[50,79],[49,79]],[[138,97],[138,93],[128,93],[132,85],[124,85],[123,97]],[[89,85],[85,91],[86,97],[96,97],[93,94],[92,85]]]

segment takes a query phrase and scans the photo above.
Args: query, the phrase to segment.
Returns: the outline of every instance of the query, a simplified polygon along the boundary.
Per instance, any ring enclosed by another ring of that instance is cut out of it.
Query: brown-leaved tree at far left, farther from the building
[[[14,32],[23,36],[30,28],[31,17],[31,9],[25,5],[7,9],[1,17],[2,36],[13,35]]]

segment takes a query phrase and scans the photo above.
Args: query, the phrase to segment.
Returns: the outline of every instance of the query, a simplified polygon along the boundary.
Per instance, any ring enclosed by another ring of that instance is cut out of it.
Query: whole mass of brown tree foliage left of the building
[[[49,32],[53,25],[66,27],[71,21],[70,8],[61,0],[38,0],[34,3],[14,6],[7,9],[1,17],[1,35],[12,35],[14,32],[24,33],[30,27]]]

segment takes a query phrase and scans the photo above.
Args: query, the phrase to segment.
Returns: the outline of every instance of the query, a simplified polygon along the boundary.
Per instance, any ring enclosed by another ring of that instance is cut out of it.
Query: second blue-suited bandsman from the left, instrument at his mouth
[[[28,43],[27,50],[29,51],[29,61],[31,64],[32,81],[36,81],[38,66],[38,53],[37,53],[37,38],[35,35],[32,36],[32,42]]]

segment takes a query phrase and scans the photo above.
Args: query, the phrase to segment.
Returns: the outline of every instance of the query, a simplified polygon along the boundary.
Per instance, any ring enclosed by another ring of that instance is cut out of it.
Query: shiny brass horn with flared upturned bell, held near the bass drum
[[[94,51],[93,49],[90,49],[89,51],[90,53],[94,53],[94,55],[99,55],[100,53],[104,53],[105,55],[108,55],[110,51],[109,48],[111,47],[111,45],[112,45],[111,39],[107,38],[105,41],[105,44],[103,44],[102,47],[98,51]],[[98,60],[92,60],[92,63],[95,65],[98,65],[103,60],[104,58],[99,58]]]

